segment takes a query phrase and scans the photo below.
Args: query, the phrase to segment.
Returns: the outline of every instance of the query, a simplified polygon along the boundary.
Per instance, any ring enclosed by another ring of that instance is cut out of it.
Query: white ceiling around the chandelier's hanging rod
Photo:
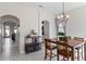
[[[54,14],[62,13],[62,2],[38,3],[44,5],[44,9],[51,11]],[[86,2],[64,2],[64,11],[71,11],[86,5]]]

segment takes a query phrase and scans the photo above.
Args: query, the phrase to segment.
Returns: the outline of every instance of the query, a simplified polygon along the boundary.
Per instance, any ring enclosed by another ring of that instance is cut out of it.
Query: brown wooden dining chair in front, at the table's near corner
[[[58,60],[60,60],[60,55],[63,56],[63,61],[72,59],[72,50],[69,47],[67,40],[57,41],[58,42]],[[62,47],[62,48],[59,48]]]

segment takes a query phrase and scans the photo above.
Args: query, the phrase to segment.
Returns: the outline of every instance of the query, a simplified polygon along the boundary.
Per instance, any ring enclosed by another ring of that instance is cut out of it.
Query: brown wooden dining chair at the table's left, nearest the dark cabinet
[[[57,49],[57,44],[53,46],[50,39],[45,39],[45,60],[49,56],[51,61],[52,57],[57,56],[57,54],[52,52],[54,49]]]

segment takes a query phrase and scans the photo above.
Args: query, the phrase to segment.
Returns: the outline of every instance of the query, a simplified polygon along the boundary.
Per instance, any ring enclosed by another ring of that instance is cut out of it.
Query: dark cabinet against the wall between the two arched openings
[[[41,49],[41,42],[38,40],[39,37],[27,37],[25,38],[25,52],[30,53]]]

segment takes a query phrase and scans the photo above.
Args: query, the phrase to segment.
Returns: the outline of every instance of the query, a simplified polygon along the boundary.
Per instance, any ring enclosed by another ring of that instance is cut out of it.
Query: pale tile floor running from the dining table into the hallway
[[[5,39],[4,42],[11,44],[12,41],[10,39]],[[0,53],[0,61],[45,61],[44,47],[39,51],[27,53],[27,54],[20,54],[17,52],[17,46],[14,44],[12,44],[12,47],[10,48],[11,50],[9,50],[9,52],[7,52],[8,49],[5,48],[4,51]],[[47,61],[49,61],[49,59],[47,59]],[[57,61],[57,57],[53,57],[52,61]]]

